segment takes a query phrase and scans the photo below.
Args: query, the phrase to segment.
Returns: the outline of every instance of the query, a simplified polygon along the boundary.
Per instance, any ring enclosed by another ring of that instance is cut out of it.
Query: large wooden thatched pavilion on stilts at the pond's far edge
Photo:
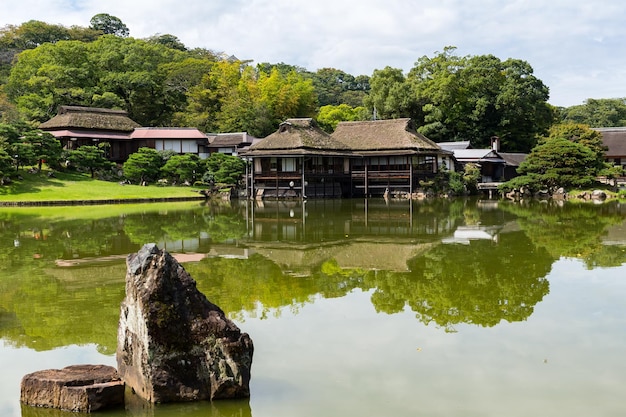
[[[452,152],[415,131],[410,119],[341,122],[329,135],[310,118],[288,119],[242,154],[248,195],[354,197],[410,193]]]

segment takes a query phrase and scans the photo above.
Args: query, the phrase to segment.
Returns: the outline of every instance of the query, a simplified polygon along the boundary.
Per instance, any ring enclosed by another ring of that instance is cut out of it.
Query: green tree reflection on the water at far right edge
[[[624,222],[617,203],[503,204],[504,210],[518,216],[518,224],[535,246],[544,248],[554,259],[580,258],[588,268],[616,266],[626,262],[626,252],[602,243],[608,226]]]

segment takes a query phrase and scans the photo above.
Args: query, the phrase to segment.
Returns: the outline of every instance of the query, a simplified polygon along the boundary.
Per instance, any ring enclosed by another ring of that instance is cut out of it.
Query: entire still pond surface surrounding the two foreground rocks
[[[330,200],[0,210],[0,416],[22,376],[115,365],[157,242],[250,334],[246,400],[102,416],[623,416],[626,205]]]

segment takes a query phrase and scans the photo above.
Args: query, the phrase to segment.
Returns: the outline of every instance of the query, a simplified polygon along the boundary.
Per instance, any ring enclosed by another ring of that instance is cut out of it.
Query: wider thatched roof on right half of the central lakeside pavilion
[[[442,151],[435,142],[415,131],[411,119],[340,122],[331,136],[354,152],[364,154]]]

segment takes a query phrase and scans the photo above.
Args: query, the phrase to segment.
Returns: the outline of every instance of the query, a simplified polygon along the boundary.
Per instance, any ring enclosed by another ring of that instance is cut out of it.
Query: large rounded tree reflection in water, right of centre
[[[459,323],[525,320],[548,293],[545,276],[553,261],[545,250],[528,246],[521,233],[505,234],[497,245],[439,245],[411,260],[410,273],[368,274],[366,281],[377,288],[372,302],[386,313],[408,305],[422,322],[448,330]]]

